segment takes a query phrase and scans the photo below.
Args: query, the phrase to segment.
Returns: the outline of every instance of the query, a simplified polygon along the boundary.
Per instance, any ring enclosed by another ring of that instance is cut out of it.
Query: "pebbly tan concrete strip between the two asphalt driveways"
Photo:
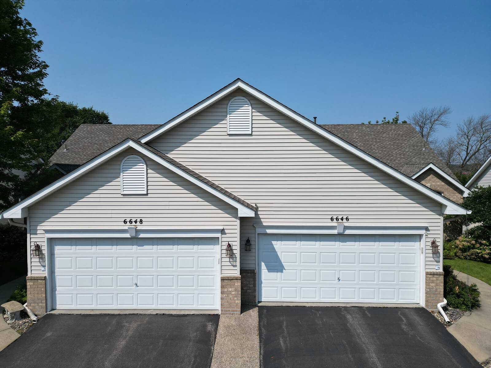
[[[259,368],[257,307],[241,315],[220,315],[211,368]]]

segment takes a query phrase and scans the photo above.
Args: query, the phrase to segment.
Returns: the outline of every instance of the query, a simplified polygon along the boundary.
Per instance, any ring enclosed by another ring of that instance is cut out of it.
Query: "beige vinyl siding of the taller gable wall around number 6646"
[[[252,104],[252,134],[227,134],[227,104]],[[442,243],[441,205],[242,91],[236,91],[149,142],[251,204],[241,219],[241,268],[255,269],[253,224],[333,224],[429,227],[426,268],[440,263],[430,242]],[[408,179],[411,180],[411,179]],[[334,222],[335,223],[335,222]]]

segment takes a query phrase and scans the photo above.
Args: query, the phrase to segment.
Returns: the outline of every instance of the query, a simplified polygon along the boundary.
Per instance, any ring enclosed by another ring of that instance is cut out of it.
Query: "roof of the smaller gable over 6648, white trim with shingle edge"
[[[33,195],[27,197],[25,200],[19,202],[17,205],[4,211],[0,217],[3,218],[21,218],[27,217],[27,209],[36,202],[46,198],[57,189],[75,181],[82,175],[86,174],[93,168],[103,164],[110,158],[120,154],[128,148],[134,148],[141,154],[155,160],[156,162],[162,164],[168,169],[174,171],[176,174],[181,175],[183,178],[189,180],[191,183],[200,186],[201,188],[207,190],[208,192],[214,194],[223,201],[229,203],[230,205],[237,208],[239,216],[253,217],[255,215],[256,207],[247,203],[243,199],[237,197],[236,195],[230,193],[228,190],[222,188],[221,186],[211,182],[205,177],[199,175],[195,171],[191,170],[189,167],[183,165],[182,163],[168,157],[162,152],[154,149],[153,147],[136,141],[132,138],[124,139],[119,144],[111,147],[106,152],[100,154],[99,156],[89,160],[79,168],[75,169],[71,173],[63,176],[62,178],[55,181],[53,184],[46,186],[45,188],[39,190]]]

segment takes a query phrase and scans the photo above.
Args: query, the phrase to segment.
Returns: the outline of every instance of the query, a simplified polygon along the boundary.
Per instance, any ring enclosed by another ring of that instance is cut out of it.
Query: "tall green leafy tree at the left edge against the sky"
[[[36,158],[32,125],[19,119],[29,105],[47,94],[43,79],[48,64],[40,59],[42,41],[31,23],[20,16],[21,0],[0,0],[0,207],[13,204],[20,185],[13,170],[28,171]]]

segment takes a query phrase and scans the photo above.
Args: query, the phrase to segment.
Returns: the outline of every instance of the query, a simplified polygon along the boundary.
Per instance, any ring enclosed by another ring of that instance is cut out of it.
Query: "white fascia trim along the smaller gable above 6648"
[[[119,153],[123,152],[124,150],[126,150],[130,147],[134,148],[136,151],[148,156],[149,158],[152,158],[156,162],[162,164],[164,167],[170,169],[171,171],[175,172],[176,174],[189,180],[191,183],[196,184],[199,187],[205,189],[206,191],[212,193],[213,195],[217,196],[218,198],[220,198],[224,202],[232,205],[233,207],[235,207],[238,210],[239,216],[241,216],[241,215],[244,217],[254,217],[255,216],[254,210],[251,210],[250,208],[240,204],[239,202],[235,201],[234,199],[230,198],[229,196],[223,194],[219,190],[217,190],[217,189],[211,187],[210,185],[207,185],[207,184],[203,183],[202,181],[196,179],[192,175],[188,174],[186,171],[174,166],[170,162],[167,162],[166,160],[157,156],[153,152],[148,151],[146,148],[141,147],[139,144],[137,144],[133,140],[126,139],[123,142],[119,143],[118,145],[114,146],[113,148],[109,149],[105,153],[99,155],[98,157],[90,160],[89,162],[83,164],[79,168],[75,169],[74,171],[72,171],[69,174],[65,175],[64,177],[60,178],[55,183],[48,185],[44,189],[41,189],[37,193],[34,193],[33,195],[31,195],[30,197],[27,197],[22,202],[19,202],[17,205],[4,211],[3,217],[5,217],[5,218],[27,217],[27,215],[20,216],[19,214],[26,213],[29,206],[33,205],[34,203],[36,203],[36,202],[40,201],[41,199],[45,198],[46,196],[50,195],[51,193],[53,193],[58,188],[73,182],[74,180],[76,180],[77,178],[79,178],[80,176],[85,174],[87,171],[95,168],[96,166],[99,166],[100,164],[104,163],[105,161],[118,155]]]

